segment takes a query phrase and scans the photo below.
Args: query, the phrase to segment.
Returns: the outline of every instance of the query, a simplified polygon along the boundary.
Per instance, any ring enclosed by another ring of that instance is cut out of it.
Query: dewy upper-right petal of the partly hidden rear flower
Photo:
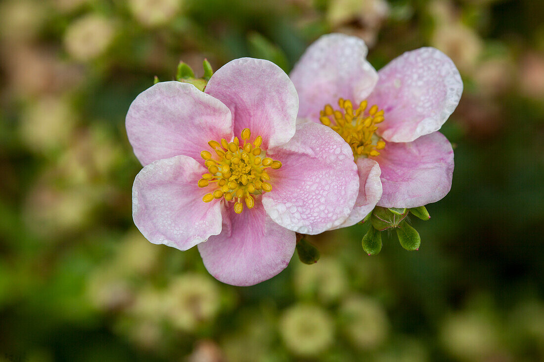
[[[457,107],[463,91],[455,64],[435,48],[406,52],[378,74],[368,102],[384,109],[379,132],[391,142],[411,142],[436,132]]]

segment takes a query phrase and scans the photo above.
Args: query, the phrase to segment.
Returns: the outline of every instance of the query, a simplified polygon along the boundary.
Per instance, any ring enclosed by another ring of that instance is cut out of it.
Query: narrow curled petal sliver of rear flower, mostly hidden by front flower
[[[363,220],[372,212],[381,197],[380,165],[369,158],[358,158],[356,164],[360,180],[359,194],[348,219],[335,229],[346,228]]]

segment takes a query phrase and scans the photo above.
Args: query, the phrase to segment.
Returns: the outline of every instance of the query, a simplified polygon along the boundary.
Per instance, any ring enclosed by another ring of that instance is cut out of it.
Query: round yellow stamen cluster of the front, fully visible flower
[[[212,153],[202,151],[200,156],[205,159],[208,173],[202,175],[199,180],[199,187],[208,186],[215,188],[215,191],[202,197],[203,202],[211,202],[214,198],[224,198],[225,201],[234,202],[234,211],[242,213],[244,199],[248,209],[255,206],[255,199],[251,195],[259,195],[272,190],[272,185],[267,181],[270,176],[266,168],[281,167],[280,161],[270,157],[264,157],[265,152],[259,147],[263,142],[261,136],[257,136],[253,143],[249,142],[251,132],[249,128],[242,130],[240,144],[238,137],[232,142],[221,139],[221,142],[209,141],[208,145],[213,149],[219,159],[212,158]]]

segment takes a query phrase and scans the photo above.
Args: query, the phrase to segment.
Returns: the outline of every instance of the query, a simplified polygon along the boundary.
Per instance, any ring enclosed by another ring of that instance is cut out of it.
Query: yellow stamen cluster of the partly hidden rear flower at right
[[[353,157],[378,156],[379,149],[384,149],[385,142],[376,135],[376,124],[384,121],[384,110],[378,110],[373,105],[367,111],[368,102],[362,101],[357,109],[349,99],[338,99],[340,110],[334,110],[330,104],[319,112],[319,120],[325,126],[335,130],[348,142],[353,151]]]

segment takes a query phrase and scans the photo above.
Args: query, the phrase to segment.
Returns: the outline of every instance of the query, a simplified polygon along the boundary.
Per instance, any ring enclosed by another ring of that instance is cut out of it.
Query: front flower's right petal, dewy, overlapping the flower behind
[[[268,171],[272,191],[263,195],[272,220],[301,234],[319,234],[349,216],[359,177],[351,148],[335,131],[323,124],[298,124],[293,138],[268,155],[282,163]]]

